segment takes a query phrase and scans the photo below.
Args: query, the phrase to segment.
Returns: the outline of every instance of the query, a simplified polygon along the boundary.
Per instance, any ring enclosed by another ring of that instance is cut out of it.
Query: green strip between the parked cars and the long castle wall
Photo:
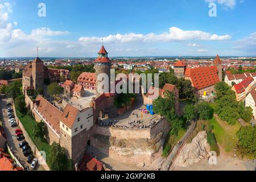
[[[45,151],[46,155],[49,154],[50,145],[47,141],[42,141],[40,138],[35,137],[33,129],[36,126],[36,121],[31,115],[22,114],[18,110],[16,110],[17,117],[19,118],[20,122],[26,129],[28,135],[30,136],[31,140],[34,142],[36,147],[39,151]]]

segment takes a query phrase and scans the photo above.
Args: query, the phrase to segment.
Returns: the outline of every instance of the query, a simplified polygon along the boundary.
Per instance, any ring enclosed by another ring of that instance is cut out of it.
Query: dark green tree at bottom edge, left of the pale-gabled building
[[[65,155],[65,148],[53,142],[47,158],[49,168],[52,171],[71,171],[72,162]]]

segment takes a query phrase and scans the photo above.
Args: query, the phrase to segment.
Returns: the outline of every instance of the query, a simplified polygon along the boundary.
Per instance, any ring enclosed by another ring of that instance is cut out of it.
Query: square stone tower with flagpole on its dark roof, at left
[[[43,87],[44,63],[39,57],[36,57],[36,59],[32,61],[32,80],[35,90]]]

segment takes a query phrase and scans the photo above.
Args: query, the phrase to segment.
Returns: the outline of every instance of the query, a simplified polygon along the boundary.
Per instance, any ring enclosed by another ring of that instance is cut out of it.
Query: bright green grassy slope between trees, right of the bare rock
[[[215,117],[210,119],[209,123],[214,127],[213,133],[217,142],[224,147],[226,152],[232,152],[238,142],[236,134],[240,130],[240,123],[237,122],[236,125],[231,126]]]

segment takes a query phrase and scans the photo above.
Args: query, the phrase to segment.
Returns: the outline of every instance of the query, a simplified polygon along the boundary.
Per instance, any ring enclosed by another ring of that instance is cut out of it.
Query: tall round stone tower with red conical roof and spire
[[[104,89],[105,93],[110,92],[110,69],[111,69],[111,61],[108,57],[108,52],[106,51],[105,47],[102,46],[100,51],[98,52],[98,57],[94,60],[95,69],[96,69],[96,98],[100,97],[103,92],[100,90]],[[101,73],[105,73],[105,76],[101,79]],[[100,77],[98,77],[100,76]],[[108,86],[108,88],[104,88],[104,86]],[[101,88],[98,88],[101,86]]]

